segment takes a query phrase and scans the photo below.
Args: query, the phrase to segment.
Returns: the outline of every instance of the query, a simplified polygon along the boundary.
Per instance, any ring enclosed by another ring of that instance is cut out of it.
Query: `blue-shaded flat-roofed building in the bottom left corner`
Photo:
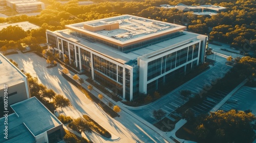
[[[35,97],[11,105],[14,113],[0,118],[0,142],[49,142],[61,141],[65,134],[62,123]],[[8,129],[8,139],[4,138]]]

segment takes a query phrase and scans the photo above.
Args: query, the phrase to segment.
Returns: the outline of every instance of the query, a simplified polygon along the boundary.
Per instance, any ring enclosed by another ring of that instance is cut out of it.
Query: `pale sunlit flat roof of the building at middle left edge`
[[[26,76],[1,53],[0,61],[0,85],[6,84],[11,86],[24,82],[23,79]],[[2,88],[4,88],[4,86],[0,87],[0,89]]]

